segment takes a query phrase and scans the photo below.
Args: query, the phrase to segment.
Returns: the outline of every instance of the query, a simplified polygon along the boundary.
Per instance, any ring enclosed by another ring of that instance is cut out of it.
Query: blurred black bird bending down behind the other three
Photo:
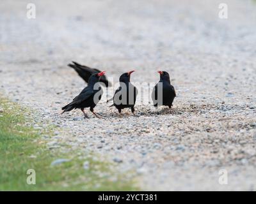
[[[83,78],[83,80],[88,83],[88,80],[91,75],[95,73],[100,73],[99,69],[93,69],[89,68],[88,66],[84,66],[81,64],[78,64],[77,62],[73,62],[73,64],[68,64],[71,68],[75,69],[78,75]],[[106,76],[100,77],[100,82],[104,83],[106,87],[111,87],[111,83],[108,81]]]

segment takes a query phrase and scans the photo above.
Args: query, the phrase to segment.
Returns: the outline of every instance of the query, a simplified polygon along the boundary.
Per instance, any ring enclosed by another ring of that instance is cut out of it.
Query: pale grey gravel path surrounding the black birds
[[[99,154],[142,189],[255,191],[256,3],[225,1],[228,19],[218,18],[219,3],[35,1],[29,20],[27,1],[2,0],[0,91],[38,110],[36,122],[65,129],[45,137],[49,145]],[[136,105],[138,117],[120,118],[102,99],[103,119],[60,115],[84,87],[70,61],[114,82],[135,68],[132,82],[154,84],[160,67],[177,91],[173,112]],[[228,185],[218,183],[221,169]]]

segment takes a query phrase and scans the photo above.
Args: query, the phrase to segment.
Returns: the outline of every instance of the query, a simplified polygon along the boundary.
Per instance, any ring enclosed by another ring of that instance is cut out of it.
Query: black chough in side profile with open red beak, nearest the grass
[[[93,108],[100,101],[101,96],[103,94],[102,88],[100,85],[97,85],[100,77],[104,75],[106,71],[101,71],[100,73],[93,74],[88,81],[88,86],[83,89],[83,91],[73,99],[71,103],[68,103],[67,106],[61,108],[63,110],[62,113],[73,110],[74,108],[80,108],[84,113],[84,119],[88,118],[86,113],[84,112],[84,108],[90,107],[90,111],[96,116],[99,117],[95,112],[93,112]],[[97,94],[97,95],[95,95]],[[95,97],[94,97],[95,96]],[[62,114],[61,113],[61,114]]]

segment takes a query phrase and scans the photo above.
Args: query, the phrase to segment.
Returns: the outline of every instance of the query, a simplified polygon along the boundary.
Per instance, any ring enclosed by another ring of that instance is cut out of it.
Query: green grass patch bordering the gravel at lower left
[[[112,172],[110,163],[95,161],[81,152],[49,150],[40,134],[31,128],[30,112],[0,96],[0,191],[134,191],[134,182]],[[51,129],[51,128],[50,128]],[[47,133],[48,135],[51,133]],[[60,158],[71,159],[51,166]],[[90,168],[84,170],[84,161]],[[36,172],[36,184],[26,180],[28,169]],[[111,180],[109,175],[116,175]]]

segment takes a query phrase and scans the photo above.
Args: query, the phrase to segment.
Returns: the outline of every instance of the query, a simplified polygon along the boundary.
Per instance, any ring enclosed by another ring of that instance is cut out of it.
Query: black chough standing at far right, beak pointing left
[[[176,92],[174,87],[171,85],[170,76],[166,71],[157,72],[160,74],[160,80],[152,91],[152,100],[154,106],[157,107],[159,105],[163,105],[172,108],[172,103],[173,99],[176,97]],[[159,98],[157,93],[159,94]]]

